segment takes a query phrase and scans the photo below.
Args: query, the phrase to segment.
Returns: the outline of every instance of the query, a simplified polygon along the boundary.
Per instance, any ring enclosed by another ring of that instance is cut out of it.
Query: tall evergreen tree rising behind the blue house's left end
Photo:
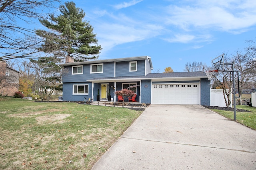
[[[83,21],[85,16],[81,8],[76,8],[74,2],[60,5],[59,16],[50,14],[40,23],[50,31],[36,30],[36,34],[44,39],[40,51],[50,53],[56,57],[74,57],[75,61],[97,59],[102,49],[98,45],[96,34],[89,22]]]

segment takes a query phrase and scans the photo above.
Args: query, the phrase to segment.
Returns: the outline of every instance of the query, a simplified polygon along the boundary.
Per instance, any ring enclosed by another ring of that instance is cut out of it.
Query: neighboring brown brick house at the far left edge
[[[14,96],[19,90],[20,72],[6,66],[6,62],[0,61],[0,95]]]

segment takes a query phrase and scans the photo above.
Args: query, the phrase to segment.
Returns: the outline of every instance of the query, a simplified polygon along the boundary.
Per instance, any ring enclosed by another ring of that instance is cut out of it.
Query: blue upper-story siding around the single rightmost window
[[[130,72],[129,61],[116,62],[116,77],[121,76],[144,76],[145,75],[145,61],[137,61],[137,71]]]

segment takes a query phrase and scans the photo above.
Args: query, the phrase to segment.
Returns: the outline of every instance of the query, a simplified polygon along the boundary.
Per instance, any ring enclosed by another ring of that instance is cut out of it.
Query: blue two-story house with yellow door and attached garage
[[[151,57],[129,57],[62,64],[63,101],[92,98],[117,102],[116,90],[129,88],[145,104],[210,106],[210,82],[204,72],[151,73]]]

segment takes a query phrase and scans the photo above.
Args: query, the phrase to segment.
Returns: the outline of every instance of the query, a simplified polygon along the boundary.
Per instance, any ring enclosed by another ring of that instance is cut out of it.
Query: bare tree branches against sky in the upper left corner
[[[55,8],[59,0],[0,0],[0,60],[33,58],[38,51],[40,40],[35,38],[34,30],[22,27],[32,19],[42,18],[47,8]]]

